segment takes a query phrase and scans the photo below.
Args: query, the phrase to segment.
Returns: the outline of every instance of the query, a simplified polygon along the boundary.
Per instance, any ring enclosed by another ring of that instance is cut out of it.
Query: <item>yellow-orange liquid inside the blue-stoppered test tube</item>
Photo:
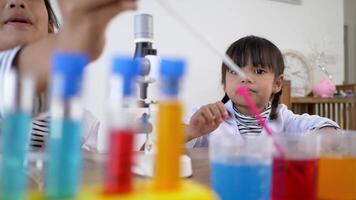
[[[157,119],[157,155],[155,163],[155,190],[172,190],[179,187],[182,153],[182,107],[178,102],[162,102]]]

